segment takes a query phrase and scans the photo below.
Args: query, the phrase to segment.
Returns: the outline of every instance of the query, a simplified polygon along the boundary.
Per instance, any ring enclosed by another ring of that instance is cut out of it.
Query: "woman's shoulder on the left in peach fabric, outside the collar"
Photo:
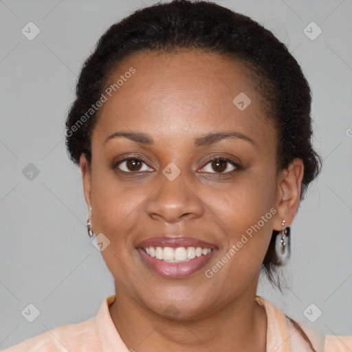
[[[24,340],[3,352],[78,352],[84,345],[94,347],[96,341],[89,333],[94,329],[94,325],[94,319],[90,318],[84,322],[56,327]]]

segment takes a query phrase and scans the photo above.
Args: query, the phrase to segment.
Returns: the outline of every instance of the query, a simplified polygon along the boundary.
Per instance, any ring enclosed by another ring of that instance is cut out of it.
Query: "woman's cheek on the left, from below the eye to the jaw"
[[[140,212],[147,195],[148,187],[146,192],[142,192],[140,187],[133,188],[126,182],[117,181],[114,173],[106,169],[93,174],[93,230],[109,239],[109,245],[101,252],[102,257],[115,282],[130,292],[133,292],[133,285],[137,285],[133,283],[137,273],[133,267],[135,260],[131,257],[137,256],[137,253],[130,234],[141,221]]]

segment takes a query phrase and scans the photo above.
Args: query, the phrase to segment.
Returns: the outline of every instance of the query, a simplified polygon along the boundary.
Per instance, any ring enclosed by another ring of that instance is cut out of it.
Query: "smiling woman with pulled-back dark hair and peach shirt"
[[[115,294],[7,351],[317,351],[256,296],[320,170],[285,45],[214,3],[153,5],[102,36],[76,95],[67,149]],[[327,336],[338,346],[351,338]]]

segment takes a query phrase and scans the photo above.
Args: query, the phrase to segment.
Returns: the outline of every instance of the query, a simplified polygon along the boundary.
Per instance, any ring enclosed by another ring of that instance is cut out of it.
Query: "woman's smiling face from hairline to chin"
[[[81,157],[92,230],[104,247],[110,241],[102,256],[117,293],[179,318],[254,295],[272,230],[281,229],[283,187],[276,133],[245,70],[185,50],[132,56],[111,83],[120,75],[98,111],[88,173]],[[111,137],[122,131],[131,137]],[[233,136],[206,137],[214,133]],[[179,237],[149,243],[162,248],[159,258],[195,258],[168,263],[138,249],[157,236]],[[212,251],[198,257],[197,247]]]

